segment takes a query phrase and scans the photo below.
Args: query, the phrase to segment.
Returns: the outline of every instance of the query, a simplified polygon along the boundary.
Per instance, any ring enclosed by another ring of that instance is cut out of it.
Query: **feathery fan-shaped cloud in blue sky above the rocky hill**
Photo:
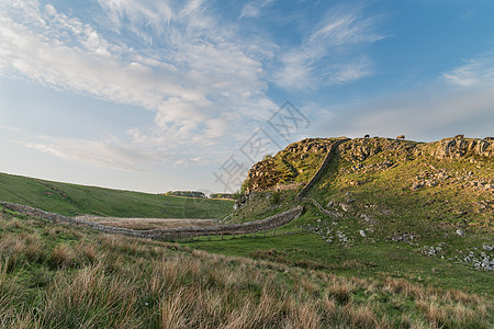
[[[313,89],[358,80],[371,73],[366,55],[357,46],[384,38],[377,31],[380,18],[364,18],[363,8],[338,5],[328,10],[300,47],[281,56],[273,82],[289,89]],[[323,68],[323,69],[321,69]]]

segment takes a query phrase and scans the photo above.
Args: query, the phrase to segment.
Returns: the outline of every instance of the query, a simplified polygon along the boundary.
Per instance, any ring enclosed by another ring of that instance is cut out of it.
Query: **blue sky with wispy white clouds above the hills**
[[[234,192],[306,137],[494,135],[494,1],[2,0],[0,172]]]

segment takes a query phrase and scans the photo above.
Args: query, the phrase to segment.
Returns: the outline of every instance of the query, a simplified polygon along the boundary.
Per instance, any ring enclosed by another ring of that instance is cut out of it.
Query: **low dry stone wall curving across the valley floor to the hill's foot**
[[[20,205],[10,202],[0,202],[0,206],[8,208],[12,212],[18,212],[24,215],[38,217],[42,219],[52,220],[54,223],[65,223],[76,226],[87,226],[92,229],[106,232],[106,234],[121,234],[131,237],[160,239],[160,240],[175,240],[180,238],[191,238],[199,236],[220,236],[220,235],[242,235],[251,234],[262,230],[273,229],[283,226],[302,215],[303,207],[296,206],[284,213],[270,216],[266,219],[258,222],[250,222],[244,224],[228,224],[216,226],[191,226],[191,227],[177,227],[177,228],[158,228],[150,230],[135,230],[122,227],[113,227],[101,225],[93,222],[87,222],[83,219],[76,219],[72,217],[61,216],[58,214],[45,212],[38,208],[34,208],[26,205]]]

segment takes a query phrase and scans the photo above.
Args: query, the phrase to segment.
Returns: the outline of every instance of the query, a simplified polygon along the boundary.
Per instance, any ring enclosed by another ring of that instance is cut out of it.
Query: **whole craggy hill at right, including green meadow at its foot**
[[[302,186],[294,182],[308,181],[297,174],[306,170],[297,168],[305,159],[321,163],[321,150],[335,140],[305,139],[256,163],[246,183],[249,193],[229,222],[260,219],[297,204]],[[304,235],[191,246],[290,264],[305,260],[341,275],[390,275],[492,297],[494,152],[493,143],[483,143],[345,141],[301,201],[305,213],[284,227],[303,228]],[[277,169],[287,162],[290,179]]]

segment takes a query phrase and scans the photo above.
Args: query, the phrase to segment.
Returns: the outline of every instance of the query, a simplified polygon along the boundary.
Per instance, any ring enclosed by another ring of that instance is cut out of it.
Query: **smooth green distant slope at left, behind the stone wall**
[[[0,173],[0,200],[61,215],[147,218],[222,218],[233,202],[166,196],[43,181]]]

